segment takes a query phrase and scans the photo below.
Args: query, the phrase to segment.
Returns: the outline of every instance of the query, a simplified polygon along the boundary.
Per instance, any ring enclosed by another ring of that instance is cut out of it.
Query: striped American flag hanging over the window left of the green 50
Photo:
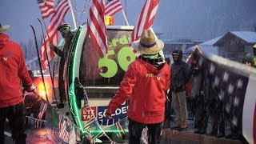
[[[93,0],[87,20],[87,33],[94,42],[101,58],[107,53],[105,5],[102,0]]]

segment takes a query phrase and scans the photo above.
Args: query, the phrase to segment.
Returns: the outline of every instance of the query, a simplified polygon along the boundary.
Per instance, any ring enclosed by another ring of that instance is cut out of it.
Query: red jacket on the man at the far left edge
[[[21,46],[0,34],[0,108],[23,102],[21,82],[31,86]]]

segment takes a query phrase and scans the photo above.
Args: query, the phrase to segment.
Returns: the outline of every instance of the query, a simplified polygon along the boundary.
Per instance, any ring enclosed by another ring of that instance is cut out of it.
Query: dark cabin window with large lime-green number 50
[[[86,38],[80,62],[80,81],[83,86],[119,86],[123,75],[135,55],[130,50],[131,30],[108,30],[108,53],[104,58],[90,38]]]

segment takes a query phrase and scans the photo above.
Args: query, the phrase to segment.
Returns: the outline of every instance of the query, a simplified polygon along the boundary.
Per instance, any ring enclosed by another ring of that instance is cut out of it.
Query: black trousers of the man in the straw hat
[[[148,141],[150,144],[160,143],[160,133],[162,122],[155,124],[143,124],[134,122],[129,118],[129,142],[130,144],[140,144],[142,130],[147,126],[148,128]]]

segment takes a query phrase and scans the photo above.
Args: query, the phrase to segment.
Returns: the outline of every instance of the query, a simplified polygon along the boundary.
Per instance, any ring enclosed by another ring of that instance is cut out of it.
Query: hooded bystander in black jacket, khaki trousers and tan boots
[[[186,106],[186,83],[189,82],[189,67],[182,61],[182,50],[172,52],[174,63],[171,67],[170,91],[177,117],[176,126],[178,130],[185,130],[187,126],[187,106]]]

